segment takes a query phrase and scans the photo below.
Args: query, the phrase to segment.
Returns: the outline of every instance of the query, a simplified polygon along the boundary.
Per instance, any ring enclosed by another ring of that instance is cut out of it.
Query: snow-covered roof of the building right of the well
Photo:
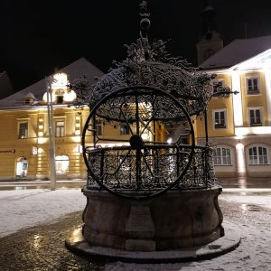
[[[229,68],[257,56],[271,48],[271,35],[230,42],[207,61],[201,63],[204,70]]]

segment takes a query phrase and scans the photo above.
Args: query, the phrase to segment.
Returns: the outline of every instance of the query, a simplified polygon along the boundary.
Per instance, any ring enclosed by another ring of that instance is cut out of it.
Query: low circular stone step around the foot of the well
[[[165,251],[126,251],[116,248],[91,246],[82,233],[81,228],[74,230],[67,238],[65,245],[71,252],[89,258],[104,259],[105,261],[122,261],[129,263],[177,263],[199,261],[219,257],[238,247],[240,236],[235,231],[234,223],[224,221],[225,235],[207,245],[195,248],[182,248]]]

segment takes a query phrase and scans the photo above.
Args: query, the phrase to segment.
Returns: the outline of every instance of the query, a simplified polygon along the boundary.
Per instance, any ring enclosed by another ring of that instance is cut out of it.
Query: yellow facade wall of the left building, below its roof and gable
[[[84,110],[86,111],[86,110]],[[80,178],[81,120],[87,112],[78,115],[71,108],[54,108],[56,173],[59,177]],[[79,126],[77,126],[79,124]],[[5,110],[0,112],[0,178],[47,179],[50,172],[50,140],[47,110]]]

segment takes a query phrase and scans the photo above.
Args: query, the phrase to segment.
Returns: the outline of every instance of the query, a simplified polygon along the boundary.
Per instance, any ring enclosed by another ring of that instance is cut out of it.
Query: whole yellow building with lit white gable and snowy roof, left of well
[[[82,75],[87,75],[91,85],[94,78],[103,73],[89,61],[79,59],[48,79],[0,101],[0,125],[3,127],[0,133],[0,181],[48,180],[52,157],[57,180],[86,179],[81,135],[89,117],[89,107],[72,106],[76,94],[69,88],[69,84]],[[131,136],[125,126],[97,123],[96,129],[101,138],[99,145],[126,145]],[[157,140],[166,140],[163,126],[145,129],[143,137],[150,140],[152,134]],[[103,137],[117,138],[117,143],[103,141]],[[91,145],[93,134],[88,133],[85,140]]]

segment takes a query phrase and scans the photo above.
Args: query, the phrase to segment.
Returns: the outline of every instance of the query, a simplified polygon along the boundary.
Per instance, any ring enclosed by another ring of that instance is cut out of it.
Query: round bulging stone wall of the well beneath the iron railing
[[[91,246],[129,251],[194,248],[222,237],[220,187],[129,201],[84,188],[83,235]]]

